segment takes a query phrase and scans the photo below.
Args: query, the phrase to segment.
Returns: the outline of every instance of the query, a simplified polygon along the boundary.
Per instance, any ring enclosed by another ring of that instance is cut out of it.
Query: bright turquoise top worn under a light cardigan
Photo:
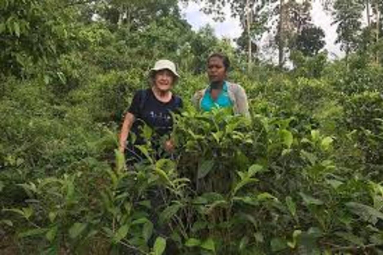
[[[229,94],[227,93],[227,83],[223,82],[222,91],[219,93],[218,98],[214,101],[210,96],[210,86],[206,89],[206,93],[203,95],[201,101],[201,109],[205,112],[211,111],[213,108],[229,108],[232,107],[233,104],[229,98]]]

